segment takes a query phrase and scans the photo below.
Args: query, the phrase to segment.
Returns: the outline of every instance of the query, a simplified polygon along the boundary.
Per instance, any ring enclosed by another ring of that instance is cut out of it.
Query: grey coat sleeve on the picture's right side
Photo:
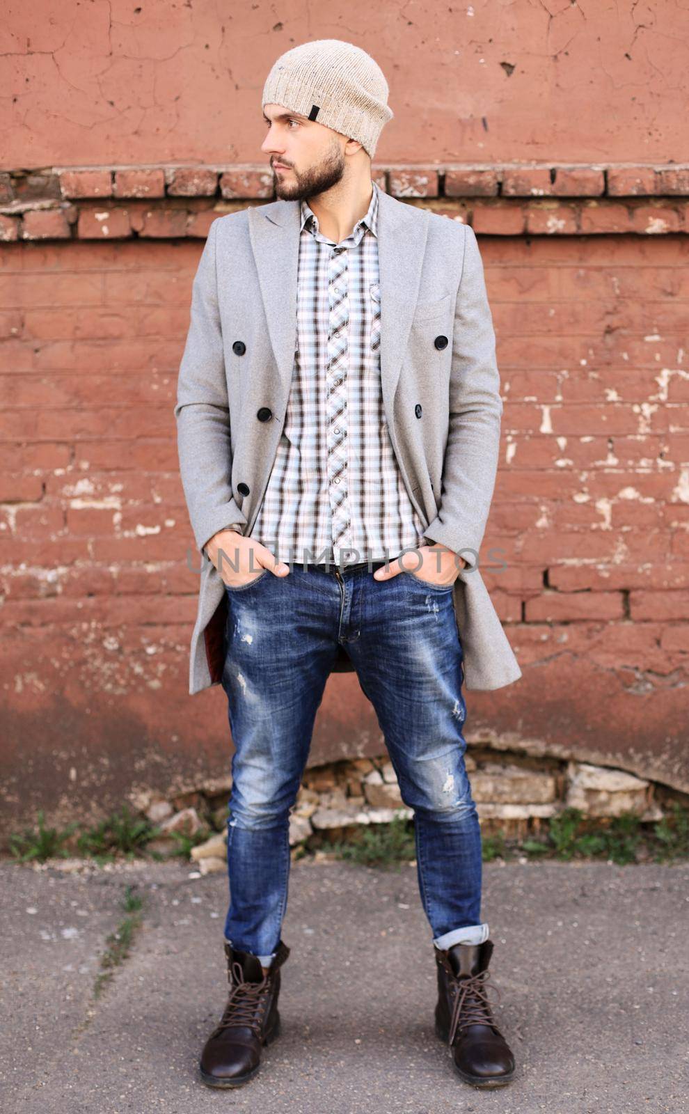
[[[500,448],[502,399],[483,263],[471,225],[454,312],[450,426],[437,515],[424,535],[478,564]]]

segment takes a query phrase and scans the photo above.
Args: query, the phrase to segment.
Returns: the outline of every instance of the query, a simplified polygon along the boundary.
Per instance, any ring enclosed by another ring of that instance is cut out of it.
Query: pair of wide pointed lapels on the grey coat
[[[394,398],[419,300],[429,217],[380,190],[381,387],[387,424],[394,430]],[[254,206],[249,237],[270,345],[286,402],[296,348],[299,202]]]

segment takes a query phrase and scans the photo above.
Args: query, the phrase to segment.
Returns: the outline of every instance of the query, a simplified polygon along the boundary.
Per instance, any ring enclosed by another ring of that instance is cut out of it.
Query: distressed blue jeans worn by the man
[[[295,561],[227,587],[227,695],[235,753],[225,939],[269,966],[287,905],[289,811],[325,683],[344,645],[414,810],[421,901],[433,942],[481,944],[481,831],[464,765],[466,707],[452,585],[371,566]],[[339,573],[339,576],[337,575]]]

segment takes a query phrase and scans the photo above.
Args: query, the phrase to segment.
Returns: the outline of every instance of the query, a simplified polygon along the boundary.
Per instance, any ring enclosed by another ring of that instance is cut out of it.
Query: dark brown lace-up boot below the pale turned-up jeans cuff
[[[453,1048],[454,1068],[475,1087],[499,1087],[514,1075],[514,1056],[491,1014],[486,991],[492,940],[434,946],[437,964],[435,1033]],[[498,991],[500,993],[500,991]]]

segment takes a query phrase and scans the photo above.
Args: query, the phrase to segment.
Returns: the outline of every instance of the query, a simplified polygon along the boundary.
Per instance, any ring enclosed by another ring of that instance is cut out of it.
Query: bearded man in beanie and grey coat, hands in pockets
[[[506,1083],[486,995],[467,687],[521,671],[478,568],[495,480],[499,372],[471,227],[371,177],[387,84],[352,43],[307,42],[263,92],[277,201],[216,219],[194,280],[175,416],[201,570],[191,693],[222,684],[235,753],[229,998],[203,1051],[245,1083],[279,1032],[288,824],[326,680],[354,668],[414,810],[460,1076]],[[347,664],[343,664],[346,662]]]

